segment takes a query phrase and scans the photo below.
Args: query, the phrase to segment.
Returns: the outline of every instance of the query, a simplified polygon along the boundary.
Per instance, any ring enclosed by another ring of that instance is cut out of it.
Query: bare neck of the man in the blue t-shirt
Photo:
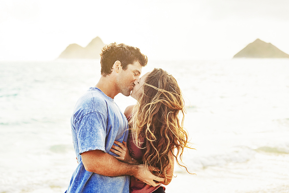
[[[101,76],[95,87],[112,99],[119,93],[114,78],[110,76]]]

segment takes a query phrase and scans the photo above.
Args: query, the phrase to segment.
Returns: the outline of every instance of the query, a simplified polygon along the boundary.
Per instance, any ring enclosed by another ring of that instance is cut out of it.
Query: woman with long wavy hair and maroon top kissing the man
[[[188,134],[183,128],[184,100],[179,85],[172,75],[155,68],[135,82],[131,96],[138,103],[125,109],[131,126],[127,144],[115,141],[119,147],[112,146],[111,151],[121,161],[159,168],[154,174],[163,177],[165,181],[160,183],[167,185],[173,177],[174,159],[186,168],[181,158],[188,147]],[[131,177],[130,192],[164,192],[164,189]]]

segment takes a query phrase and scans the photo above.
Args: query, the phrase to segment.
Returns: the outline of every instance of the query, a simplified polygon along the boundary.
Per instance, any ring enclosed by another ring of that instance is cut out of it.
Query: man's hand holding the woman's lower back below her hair
[[[139,179],[140,181],[143,181],[148,185],[155,187],[160,184],[159,182],[164,181],[164,178],[153,175],[151,171],[158,171],[158,168],[154,167],[145,168],[143,164],[138,165],[138,172],[134,174],[134,177],[136,179]]]

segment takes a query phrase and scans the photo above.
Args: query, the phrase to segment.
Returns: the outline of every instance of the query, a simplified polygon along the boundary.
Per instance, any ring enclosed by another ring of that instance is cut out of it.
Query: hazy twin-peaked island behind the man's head
[[[60,54],[58,58],[66,59],[99,59],[101,49],[105,46],[99,37],[94,38],[86,47],[71,44]]]

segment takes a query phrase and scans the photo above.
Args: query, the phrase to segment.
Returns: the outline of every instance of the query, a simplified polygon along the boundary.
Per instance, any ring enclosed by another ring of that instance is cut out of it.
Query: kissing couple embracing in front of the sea
[[[190,148],[181,89],[163,69],[140,78],[147,56],[136,47],[111,43],[100,63],[99,82],[79,98],[71,117],[78,165],[66,192],[164,192],[175,161],[186,168],[181,157]],[[118,93],[137,104],[122,113],[114,102]]]

